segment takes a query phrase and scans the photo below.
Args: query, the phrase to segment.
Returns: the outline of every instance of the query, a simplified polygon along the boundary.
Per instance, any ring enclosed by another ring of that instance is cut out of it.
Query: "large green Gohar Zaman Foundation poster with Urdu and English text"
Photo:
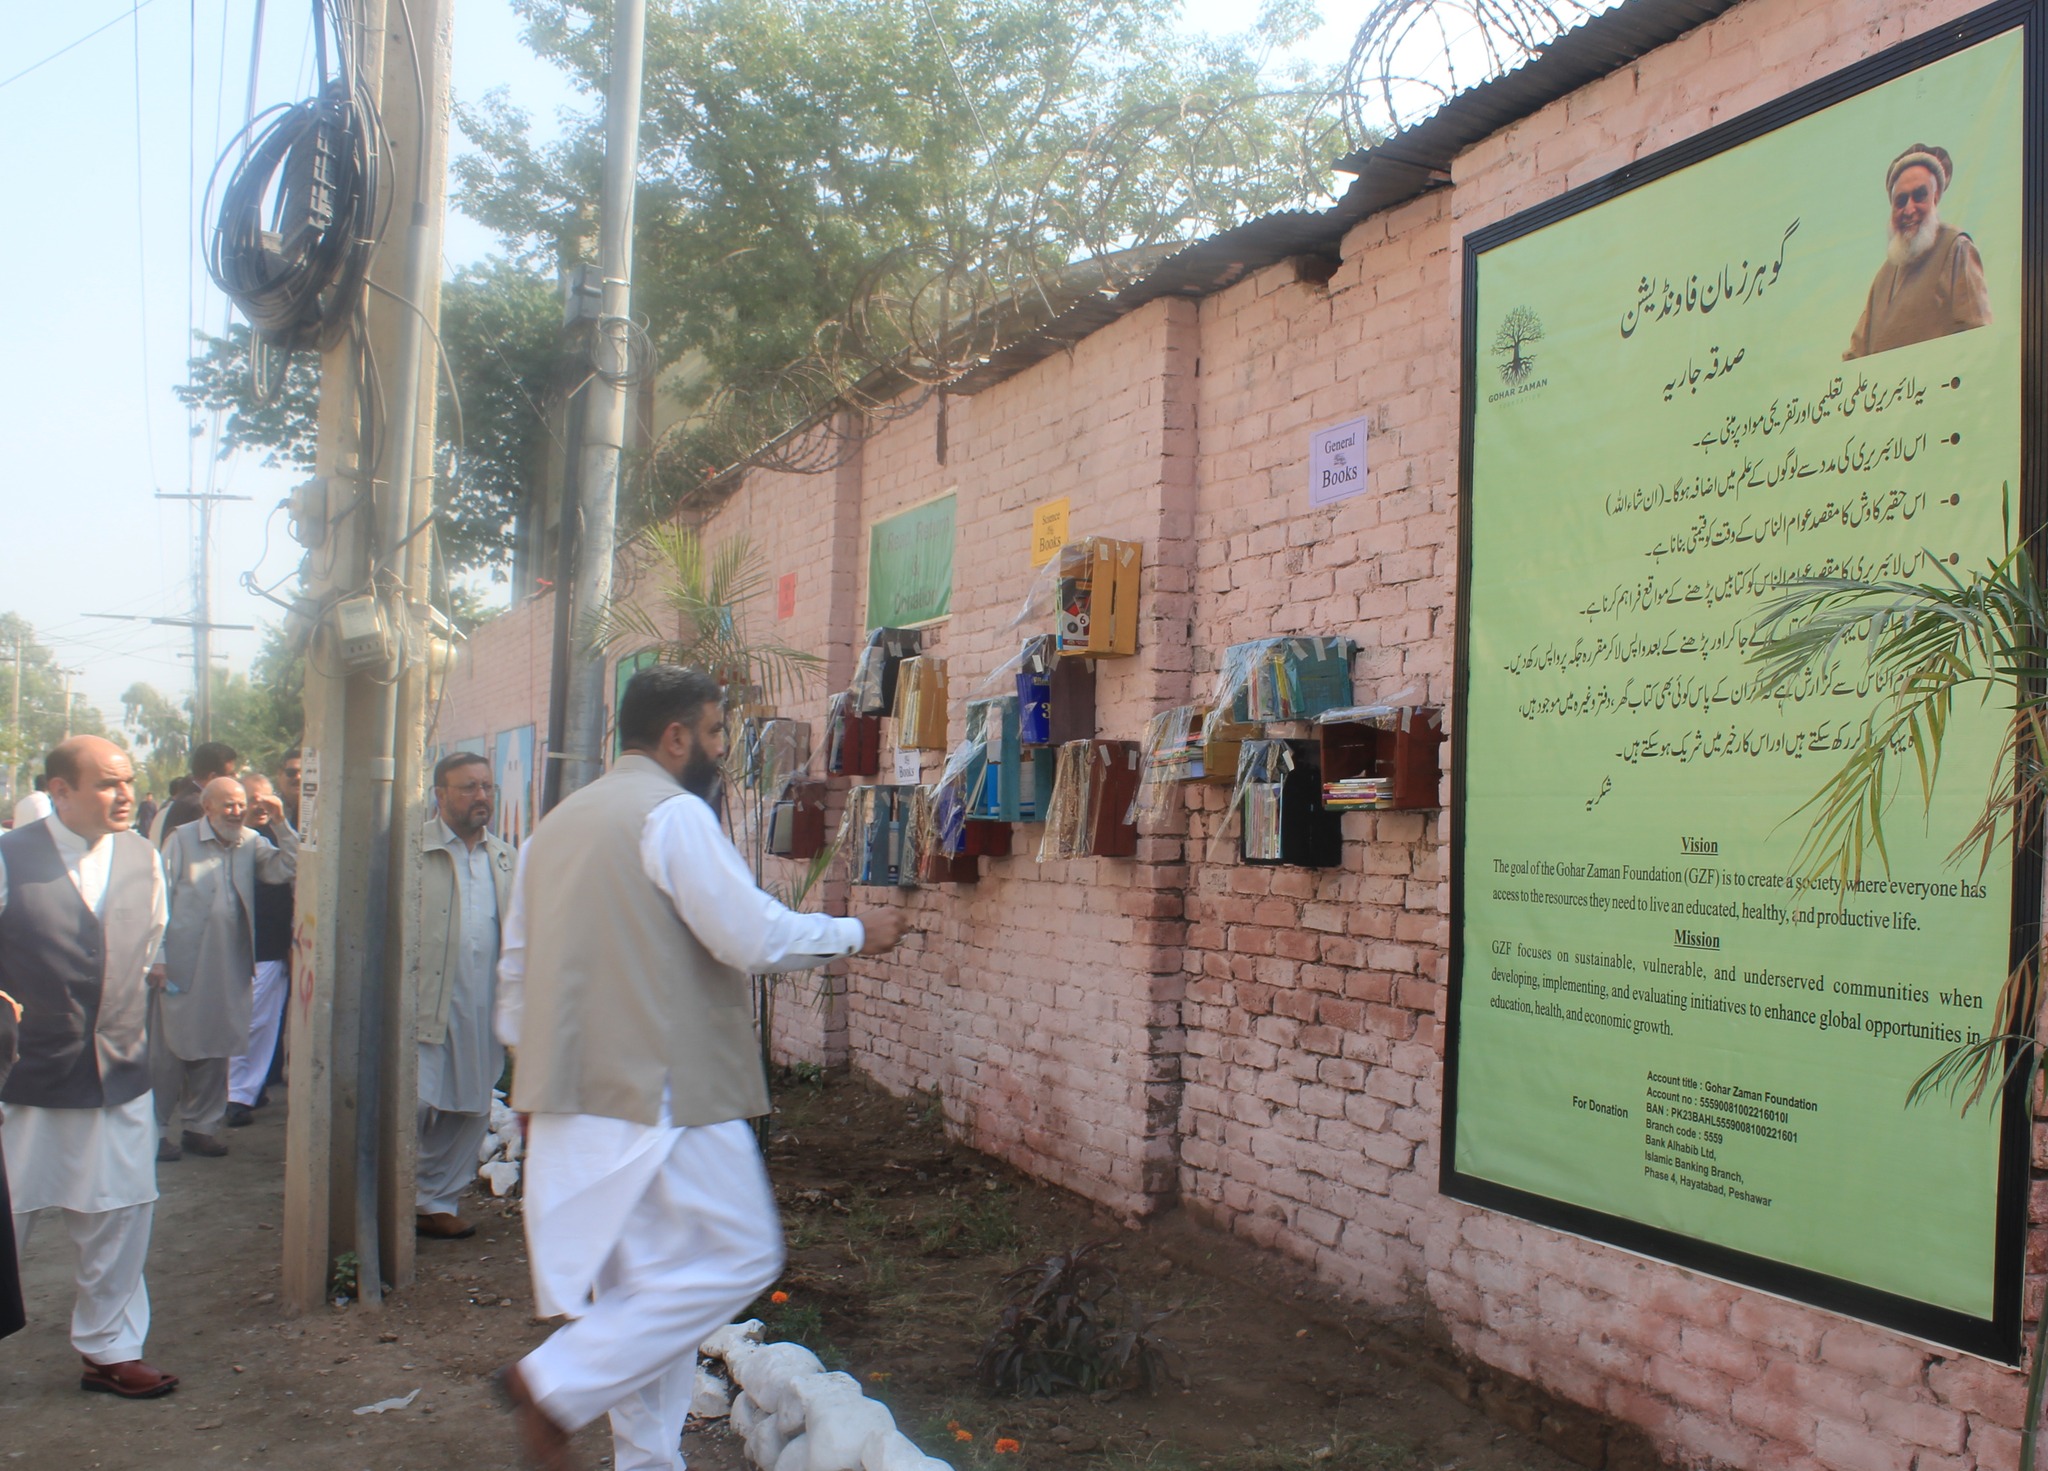
[[[1905,1098],[2038,922],[1950,858],[2003,717],[1958,703],[1931,813],[1905,754],[1888,863],[1802,887],[1880,692],[1765,697],[1749,647],[1792,580],[2005,551],[2019,14],[1466,240],[1444,1123],[1446,1194],[1997,1358],[2023,1123]]]

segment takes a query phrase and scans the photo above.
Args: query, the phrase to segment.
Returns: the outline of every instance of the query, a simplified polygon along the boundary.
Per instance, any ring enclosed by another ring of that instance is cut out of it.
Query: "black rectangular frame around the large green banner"
[[[1554,225],[1585,209],[1604,205],[1642,184],[1667,178],[1731,148],[1749,143],[1780,127],[1798,123],[1835,102],[1911,72],[1942,61],[1972,45],[2013,29],[2023,33],[2021,100],[2021,348],[2019,348],[2019,531],[2032,535],[2048,524],[2048,404],[2042,371],[2048,365],[2048,0],[2003,0],[1933,31],[1903,41],[1841,72],[1808,82],[1741,117],[1716,123],[1694,137],[1649,158],[1626,164],[1604,178],[1532,205],[1499,223],[1464,236],[1464,322],[1460,365],[1458,428],[1458,627],[1456,703],[1452,707],[1452,836],[1450,836],[1450,994],[1444,1022],[1444,1123],[1438,1188],[1466,1205],[1522,1217],[1571,1235],[1622,1248],[1638,1256],[1671,1262],[1776,1297],[1843,1313],[1880,1328],[1892,1328],[1933,1344],[2017,1364],[2021,1358],[2021,1293],[2025,1283],[2028,1233],[2028,1067],[2017,1067],[2005,1090],[1997,1166],[1997,1227],[1993,1242],[1993,1315],[1989,1319],[1919,1299],[1792,1266],[1751,1252],[1739,1252],[1700,1237],[1645,1225],[1628,1217],[1556,1201],[1458,1170],[1458,1016],[1464,992],[1464,760],[1470,684],[1470,598],[1473,584],[1473,440],[1479,389],[1479,264],[1485,252]],[[2042,928],[2042,836],[2013,846],[2011,965],[2017,967],[2040,947]],[[1935,1104],[1927,1104],[1935,1106]]]

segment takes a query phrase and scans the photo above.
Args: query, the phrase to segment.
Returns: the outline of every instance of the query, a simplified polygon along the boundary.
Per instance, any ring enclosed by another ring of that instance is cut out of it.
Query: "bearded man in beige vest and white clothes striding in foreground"
[[[682,1471],[696,1346],[782,1270],[745,1123],[768,1112],[748,975],[903,934],[897,914],[797,914],[754,885],[705,801],[725,752],[711,676],[635,674],[618,740],[520,850],[498,967],[535,1299],[575,1317],[502,1381],[547,1471],[606,1412],[616,1471]]]

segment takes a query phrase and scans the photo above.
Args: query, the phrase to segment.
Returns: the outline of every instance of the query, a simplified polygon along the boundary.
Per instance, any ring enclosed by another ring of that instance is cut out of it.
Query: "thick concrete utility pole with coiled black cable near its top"
[[[319,611],[305,678],[305,774],[291,994],[291,1112],[285,1153],[285,1301],[317,1307],[338,1258],[356,1291],[414,1270],[418,1160],[414,1031],[420,756],[428,660],[434,361],[440,227],[446,213],[453,0],[365,0],[354,64],[389,148],[391,221],[369,272],[369,348],[383,402],[356,402],[356,344],[322,359],[324,545],[309,559]],[[379,463],[362,463],[362,412]],[[393,637],[381,668],[346,672],[334,606],[375,598]]]

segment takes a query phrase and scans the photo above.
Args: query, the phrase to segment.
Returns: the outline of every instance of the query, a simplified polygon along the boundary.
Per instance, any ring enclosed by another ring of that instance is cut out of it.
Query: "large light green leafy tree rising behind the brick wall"
[[[518,8],[598,96],[604,6]],[[635,311],[690,416],[653,508],[877,367],[942,383],[1167,244],[1321,199],[1352,141],[1331,78],[1272,68],[1313,20],[1284,0],[1214,41],[1139,0],[657,0]],[[549,145],[502,92],[461,121],[463,209],[522,258],[586,256],[602,109]]]

